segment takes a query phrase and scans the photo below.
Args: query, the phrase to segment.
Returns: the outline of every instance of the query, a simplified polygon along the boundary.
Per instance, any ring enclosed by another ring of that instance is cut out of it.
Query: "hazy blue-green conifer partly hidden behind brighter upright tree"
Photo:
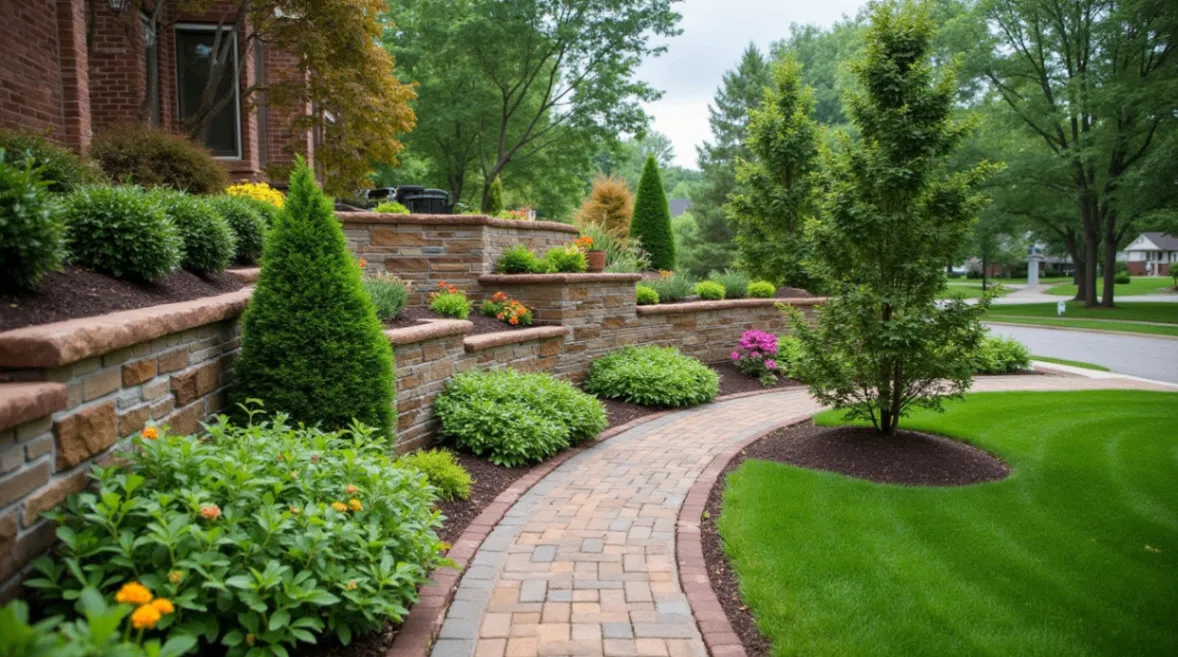
[[[723,84],[708,107],[712,141],[697,148],[703,180],[690,194],[696,230],[684,235],[680,245],[680,261],[689,264],[687,273],[691,276],[727,270],[735,260],[736,233],[723,206],[736,186],[736,155],[747,154],[749,111],[761,102],[768,84],[769,66],[756,46],[749,44],[737,67],[724,73]]]

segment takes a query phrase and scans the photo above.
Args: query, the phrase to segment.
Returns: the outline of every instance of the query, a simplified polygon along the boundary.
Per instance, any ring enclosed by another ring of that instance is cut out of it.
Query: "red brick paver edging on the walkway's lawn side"
[[[760,392],[753,392],[753,394],[760,394]],[[747,393],[743,396],[749,397]],[[703,637],[703,644],[712,657],[746,657],[747,652],[740,636],[733,631],[732,624],[728,622],[728,613],[720,604],[716,592],[712,589],[708,564],[703,559],[700,523],[708,506],[708,496],[712,495],[712,487],[716,484],[720,474],[728,467],[728,463],[736,458],[741,450],[774,431],[809,422],[815,414],[807,413],[803,417],[793,417],[717,453],[713,457],[712,463],[700,472],[695,483],[691,484],[691,489],[687,492],[687,497],[683,498],[683,505],[679,507],[679,519],[675,523],[675,563],[679,566],[679,585],[687,596],[691,616],[695,618],[700,636]]]

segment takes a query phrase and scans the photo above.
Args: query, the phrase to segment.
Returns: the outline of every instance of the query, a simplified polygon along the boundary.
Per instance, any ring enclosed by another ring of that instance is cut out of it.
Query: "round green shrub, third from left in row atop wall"
[[[237,239],[207,199],[172,190],[152,194],[180,235],[180,266],[197,273],[225,271],[237,253]]]

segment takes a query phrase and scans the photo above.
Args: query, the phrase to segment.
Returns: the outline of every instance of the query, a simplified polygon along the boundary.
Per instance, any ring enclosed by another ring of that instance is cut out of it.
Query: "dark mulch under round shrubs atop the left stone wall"
[[[45,274],[34,292],[0,293],[0,331],[174,304],[241,287],[227,272],[197,276],[180,270],[155,283],[130,283],[71,267]]]

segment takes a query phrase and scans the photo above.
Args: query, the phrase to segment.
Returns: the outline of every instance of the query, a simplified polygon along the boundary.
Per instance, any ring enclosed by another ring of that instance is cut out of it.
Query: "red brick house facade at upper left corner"
[[[267,168],[287,165],[294,153],[313,161],[318,131],[297,127],[298,111],[267,102],[259,91],[300,75],[298,60],[254,38],[247,22],[236,22],[239,2],[206,2],[200,13],[166,1],[6,5],[0,128],[44,133],[86,153],[106,128],[150,124],[183,133],[212,107],[196,137],[232,178],[265,179]],[[203,92],[214,52],[227,58],[207,104]]]

